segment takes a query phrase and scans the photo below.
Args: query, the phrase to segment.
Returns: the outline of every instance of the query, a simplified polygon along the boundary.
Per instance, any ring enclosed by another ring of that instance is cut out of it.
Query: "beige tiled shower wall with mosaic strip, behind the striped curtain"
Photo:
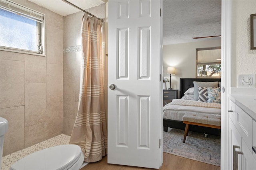
[[[105,18],[105,4],[86,11],[98,18]],[[82,55],[80,29],[83,15],[83,12],[77,12],[64,17],[63,133],[67,135],[72,133],[78,110],[80,58]],[[104,34],[102,36],[104,37]]]

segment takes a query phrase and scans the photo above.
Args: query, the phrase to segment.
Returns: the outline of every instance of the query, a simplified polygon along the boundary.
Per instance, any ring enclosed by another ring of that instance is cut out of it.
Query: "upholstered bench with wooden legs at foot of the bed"
[[[211,127],[220,129],[220,115],[206,114],[206,113],[186,113],[183,117],[183,123],[186,124],[183,143],[185,143],[188,136],[189,125],[197,125],[202,127]]]

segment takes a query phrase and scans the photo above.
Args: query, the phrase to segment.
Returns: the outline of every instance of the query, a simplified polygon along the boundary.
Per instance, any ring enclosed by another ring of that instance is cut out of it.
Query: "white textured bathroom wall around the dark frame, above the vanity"
[[[250,50],[250,14],[256,13],[255,0],[232,1],[232,81],[238,74],[256,74],[256,50]]]

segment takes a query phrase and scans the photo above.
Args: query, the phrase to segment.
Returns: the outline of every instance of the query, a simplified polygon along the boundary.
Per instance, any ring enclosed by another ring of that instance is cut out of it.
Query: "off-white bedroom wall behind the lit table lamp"
[[[175,67],[175,75],[172,75],[172,88],[180,88],[180,78],[196,77],[196,48],[220,47],[221,40],[204,40],[193,43],[179,43],[172,45],[164,45],[163,51],[163,76],[166,74],[167,67]],[[167,88],[170,83],[167,82]]]

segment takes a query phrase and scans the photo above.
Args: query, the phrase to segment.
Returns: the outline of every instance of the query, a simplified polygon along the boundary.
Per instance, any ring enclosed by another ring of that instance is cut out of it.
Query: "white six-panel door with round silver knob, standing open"
[[[160,168],[162,1],[108,3],[108,163]]]

